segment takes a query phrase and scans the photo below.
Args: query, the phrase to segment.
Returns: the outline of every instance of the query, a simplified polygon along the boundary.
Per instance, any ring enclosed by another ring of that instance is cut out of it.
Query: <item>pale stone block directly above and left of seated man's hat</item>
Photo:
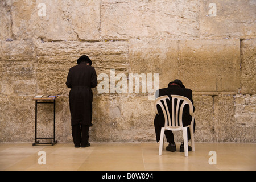
[[[159,88],[166,88],[178,75],[177,43],[171,39],[130,40],[131,73],[159,74]]]

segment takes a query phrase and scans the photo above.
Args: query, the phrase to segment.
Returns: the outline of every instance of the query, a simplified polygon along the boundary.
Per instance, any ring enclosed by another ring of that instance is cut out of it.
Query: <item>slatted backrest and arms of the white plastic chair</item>
[[[171,98],[171,99],[170,99]],[[167,104],[170,103],[170,104]],[[165,120],[165,127],[170,129],[177,129],[179,130],[182,125],[182,114],[184,106],[189,105],[189,113],[193,117],[193,104],[191,100],[184,96],[178,95],[171,95],[169,96],[160,96],[156,98],[154,102],[154,110],[155,113],[158,114],[158,105],[160,105],[164,120]],[[169,105],[169,106],[168,106]],[[171,117],[170,117],[170,110],[171,110]]]

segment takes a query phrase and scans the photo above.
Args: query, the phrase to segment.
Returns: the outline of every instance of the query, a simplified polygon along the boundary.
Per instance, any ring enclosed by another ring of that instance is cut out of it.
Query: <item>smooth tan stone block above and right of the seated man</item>
[[[240,40],[180,40],[179,78],[196,94],[237,93]]]

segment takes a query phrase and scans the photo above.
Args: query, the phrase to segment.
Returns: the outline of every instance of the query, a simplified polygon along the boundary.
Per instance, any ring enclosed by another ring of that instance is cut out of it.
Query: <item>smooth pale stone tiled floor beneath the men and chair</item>
[[[180,143],[176,146],[179,151]],[[196,143],[196,151],[187,158],[166,150],[158,155],[158,147],[158,143],[91,143],[88,148],[75,148],[71,143],[34,147],[2,143],[0,170],[256,170],[254,143]],[[39,151],[46,152],[46,164],[39,165]],[[209,151],[216,151],[217,164],[209,164]]]

